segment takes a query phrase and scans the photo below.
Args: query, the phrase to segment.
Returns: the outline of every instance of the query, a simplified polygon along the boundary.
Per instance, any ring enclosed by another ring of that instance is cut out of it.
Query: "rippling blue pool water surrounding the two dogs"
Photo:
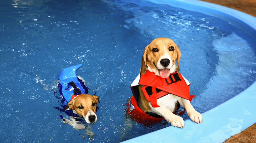
[[[144,47],[158,37],[180,47],[180,72],[191,82],[192,105],[200,113],[256,79],[255,39],[182,8],[148,1],[11,0],[0,4],[0,18],[1,142],[118,142],[170,126],[144,126],[124,112]],[[59,115],[66,115],[57,109],[57,75],[80,63],[77,75],[100,97],[91,140],[62,123]]]

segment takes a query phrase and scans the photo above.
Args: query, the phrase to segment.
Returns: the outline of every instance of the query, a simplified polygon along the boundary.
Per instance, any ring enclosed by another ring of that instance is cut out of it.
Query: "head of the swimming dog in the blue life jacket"
[[[97,120],[96,104],[99,103],[99,97],[96,95],[83,94],[77,96],[74,100],[70,100],[64,108],[72,109],[75,114],[83,117],[87,123],[93,123]]]

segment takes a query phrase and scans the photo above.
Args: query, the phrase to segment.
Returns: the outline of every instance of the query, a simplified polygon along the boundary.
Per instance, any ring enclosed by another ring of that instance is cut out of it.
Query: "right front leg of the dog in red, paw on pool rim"
[[[178,98],[178,102],[186,109],[189,118],[193,122],[196,122],[198,124],[202,122],[202,115],[194,109],[189,100],[180,97]]]

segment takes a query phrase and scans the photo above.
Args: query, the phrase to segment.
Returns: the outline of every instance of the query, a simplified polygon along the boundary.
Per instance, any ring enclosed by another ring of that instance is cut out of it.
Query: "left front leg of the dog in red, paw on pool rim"
[[[173,114],[168,108],[164,107],[159,102],[157,103],[160,107],[153,108],[153,111],[159,113],[164,119],[172,124],[174,127],[184,128],[184,120],[175,114]]]

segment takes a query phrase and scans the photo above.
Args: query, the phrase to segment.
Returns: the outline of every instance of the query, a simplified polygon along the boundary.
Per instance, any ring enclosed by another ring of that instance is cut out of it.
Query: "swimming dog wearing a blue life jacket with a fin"
[[[58,75],[58,89],[64,108],[59,108],[59,110],[67,115],[66,118],[60,115],[60,118],[63,123],[70,124],[76,130],[85,130],[85,134],[93,139],[95,134],[91,123],[97,120],[96,110],[99,97],[88,94],[89,88],[85,85],[84,79],[76,75],[76,70],[81,66],[82,64],[67,67]]]

